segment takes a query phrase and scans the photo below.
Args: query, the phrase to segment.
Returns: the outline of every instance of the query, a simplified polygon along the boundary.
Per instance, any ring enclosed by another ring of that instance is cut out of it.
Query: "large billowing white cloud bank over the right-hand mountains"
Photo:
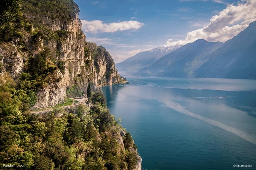
[[[256,0],[243,0],[235,4],[228,4],[227,8],[210,19],[210,23],[201,29],[187,33],[184,40],[169,39],[167,46],[184,45],[197,39],[225,42],[236,36],[256,20]]]

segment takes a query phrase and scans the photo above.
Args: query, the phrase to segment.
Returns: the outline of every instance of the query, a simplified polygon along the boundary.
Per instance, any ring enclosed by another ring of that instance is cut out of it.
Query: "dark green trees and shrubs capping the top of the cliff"
[[[48,25],[52,24],[51,20],[70,20],[79,11],[77,4],[72,0],[0,0],[0,2],[3,4],[3,8],[0,9],[0,42],[16,40],[26,52],[37,48],[39,39],[63,42],[70,32],[53,31]],[[47,19],[49,21],[45,23]],[[34,47],[26,45],[27,38],[32,39]]]

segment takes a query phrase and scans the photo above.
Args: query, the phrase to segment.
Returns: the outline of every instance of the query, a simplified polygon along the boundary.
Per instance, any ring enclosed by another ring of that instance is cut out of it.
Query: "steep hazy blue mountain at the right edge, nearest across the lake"
[[[256,79],[256,21],[208,58],[193,76]]]

